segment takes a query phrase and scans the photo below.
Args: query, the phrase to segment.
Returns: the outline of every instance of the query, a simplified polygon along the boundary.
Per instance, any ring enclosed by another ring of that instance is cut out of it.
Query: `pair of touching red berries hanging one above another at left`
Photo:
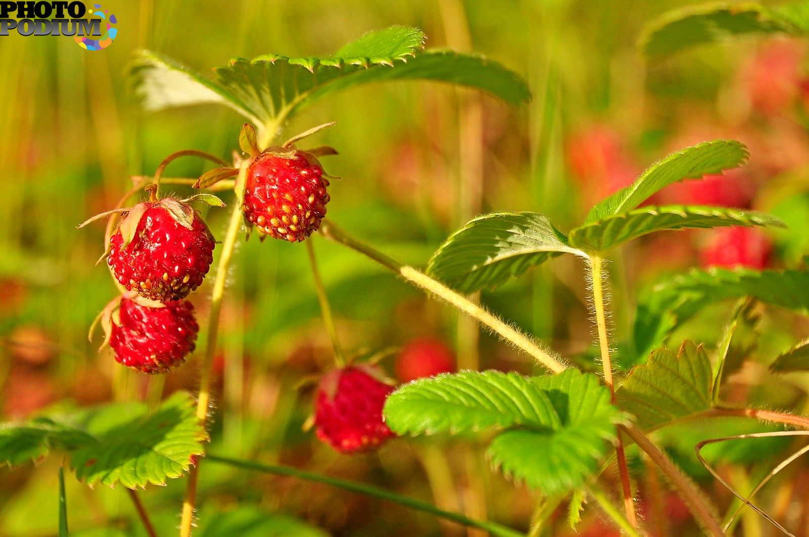
[[[193,352],[199,325],[184,298],[208,273],[214,238],[188,201],[153,197],[126,210],[108,252],[112,275],[128,293],[101,314],[106,341],[116,362],[165,373]]]

